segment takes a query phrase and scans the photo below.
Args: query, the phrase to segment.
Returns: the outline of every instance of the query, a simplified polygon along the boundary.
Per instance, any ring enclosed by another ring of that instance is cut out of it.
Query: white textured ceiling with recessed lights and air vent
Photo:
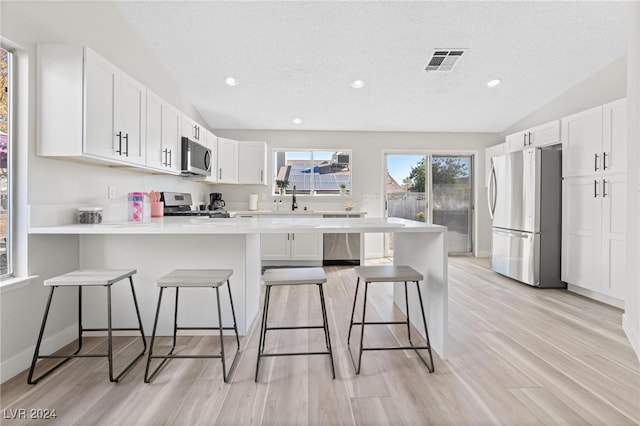
[[[212,129],[501,132],[626,53],[622,2],[116,5]]]

